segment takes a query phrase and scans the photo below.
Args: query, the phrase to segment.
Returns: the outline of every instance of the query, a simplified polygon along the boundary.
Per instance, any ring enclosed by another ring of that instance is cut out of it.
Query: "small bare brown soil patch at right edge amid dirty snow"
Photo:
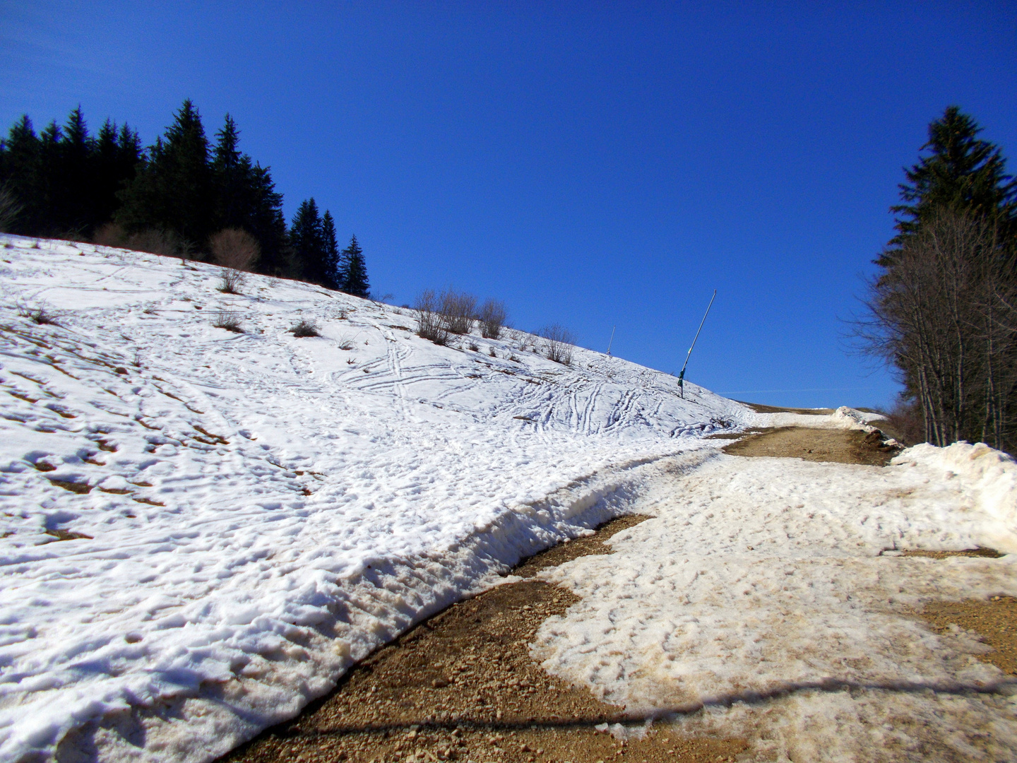
[[[940,633],[950,632],[951,625],[976,633],[993,647],[978,658],[992,662],[1006,673],[1017,674],[1017,598],[993,596],[989,601],[933,601],[920,612]]]

